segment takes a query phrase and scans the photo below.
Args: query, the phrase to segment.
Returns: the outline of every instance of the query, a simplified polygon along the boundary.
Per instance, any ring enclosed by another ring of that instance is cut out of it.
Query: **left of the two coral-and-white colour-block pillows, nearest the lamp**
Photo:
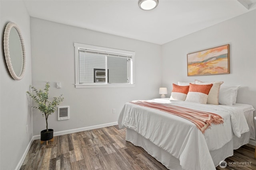
[[[188,89],[189,86],[179,86],[177,84],[172,84],[172,94],[170,100],[186,100]]]

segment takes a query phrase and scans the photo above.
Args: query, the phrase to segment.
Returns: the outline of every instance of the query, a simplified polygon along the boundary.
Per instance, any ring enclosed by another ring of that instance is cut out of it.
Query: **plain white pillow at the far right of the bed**
[[[240,86],[220,86],[219,104],[229,106],[235,104],[239,87]]]

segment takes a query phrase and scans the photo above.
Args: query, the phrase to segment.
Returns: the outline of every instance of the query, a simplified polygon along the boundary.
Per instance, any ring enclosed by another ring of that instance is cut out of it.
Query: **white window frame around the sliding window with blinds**
[[[134,87],[134,51],[125,51],[125,50],[119,50],[119,49],[111,49],[106,47],[98,47],[94,45],[86,45],[86,44],[80,44],[80,43],[74,43],[75,47],[75,68],[76,68],[76,82],[75,87],[76,88],[102,88],[102,87]],[[131,55],[132,59],[130,61],[130,83],[114,83],[114,84],[79,84],[79,49],[91,49],[91,50],[97,50],[97,51],[104,51],[109,53],[121,53],[126,55]]]

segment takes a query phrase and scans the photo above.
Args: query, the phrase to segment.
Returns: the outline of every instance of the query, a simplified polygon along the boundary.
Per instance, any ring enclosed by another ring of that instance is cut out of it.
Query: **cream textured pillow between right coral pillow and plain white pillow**
[[[201,82],[199,80],[195,80],[195,84],[213,84],[207,98],[208,104],[219,104],[219,92],[220,92],[220,85],[223,82],[212,81],[212,82]]]

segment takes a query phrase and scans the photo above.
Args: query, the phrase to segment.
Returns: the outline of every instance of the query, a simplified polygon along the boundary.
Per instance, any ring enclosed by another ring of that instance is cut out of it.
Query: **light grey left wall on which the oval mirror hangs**
[[[26,91],[32,83],[30,54],[30,16],[22,1],[1,1],[1,59],[0,59],[0,169],[14,170],[32,139],[32,109]],[[3,35],[12,21],[21,30],[26,50],[26,71],[22,80],[13,80],[4,59]],[[28,125],[28,133],[26,133]]]

